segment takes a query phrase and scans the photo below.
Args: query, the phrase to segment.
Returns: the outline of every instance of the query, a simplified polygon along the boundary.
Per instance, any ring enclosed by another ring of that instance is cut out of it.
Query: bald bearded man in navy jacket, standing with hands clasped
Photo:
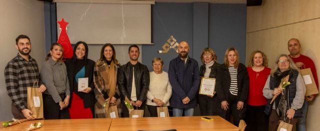
[[[189,45],[181,41],[178,45],[179,55],[169,63],[169,81],[172,86],[170,106],[173,116],[192,116],[197,105],[196,93],[200,76],[198,62],[188,56]]]

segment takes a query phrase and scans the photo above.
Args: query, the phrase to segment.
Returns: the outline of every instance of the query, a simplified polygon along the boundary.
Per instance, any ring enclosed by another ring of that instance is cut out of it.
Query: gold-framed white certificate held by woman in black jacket
[[[213,95],[215,78],[202,77],[199,94]]]

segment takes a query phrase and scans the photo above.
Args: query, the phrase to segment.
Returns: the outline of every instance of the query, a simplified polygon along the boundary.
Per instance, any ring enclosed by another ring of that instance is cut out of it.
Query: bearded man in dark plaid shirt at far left
[[[15,48],[18,54],[5,66],[4,79],[6,92],[10,96],[11,111],[14,118],[34,119],[32,111],[26,108],[27,87],[32,87],[34,81],[38,81],[39,92],[46,88],[39,76],[38,64],[29,53],[31,51],[30,39],[26,35],[19,35],[15,39]]]

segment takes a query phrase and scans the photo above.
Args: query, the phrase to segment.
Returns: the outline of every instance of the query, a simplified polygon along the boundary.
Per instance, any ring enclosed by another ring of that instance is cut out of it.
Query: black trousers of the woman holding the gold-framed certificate
[[[198,95],[198,104],[200,107],[200,112],[202,116],[206,115],[215,115],[214,106],[215,106],[216,97],[209,97],[203,94]]]

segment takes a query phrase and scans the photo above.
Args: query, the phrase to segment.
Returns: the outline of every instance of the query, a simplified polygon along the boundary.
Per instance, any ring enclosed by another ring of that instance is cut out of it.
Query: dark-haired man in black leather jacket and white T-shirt
[[[122,112],[124,117],[129,116],[124,98],[127,97],[134,109],[145,108],[146,93],[149,89],[149,70],[138,61],[139,47],[135,44],[129,46],[130,61],[120,66],[117,73],[117,85],[121,92]]]

